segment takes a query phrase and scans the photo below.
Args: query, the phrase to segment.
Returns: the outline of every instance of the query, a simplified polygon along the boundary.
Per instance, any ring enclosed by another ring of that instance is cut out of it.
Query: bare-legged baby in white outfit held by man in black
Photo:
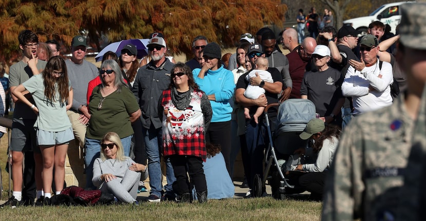
[[[256,73],[260,76],[262,81],[268,82],[268,83],[274,83],[274,80],[272,79],[272,76],[268,71],[269,63],[268,59],[266,57],[258,57],[255,61],[255,70],[250,71],[250,73],[247,74],[246,79],[247,81],[250,81],[251,77],[256,77]],[[263,84],[264,85],[264,84]],[[254,86],[248,84],[247,88],[244,91],[244,96],[249,99],[257,99],[260,95],[265,93],[265,89],[260,87],[260,85]],[[258,107],[256,110],[256,113],[253,115],[253,118],[255,119],[256,124],[259,124],[258,118],[260,115],[262,115],[263,110],[265,110],[265,107]],[[244,107],[244,115],[245,118],[250,119],[249,114],[249,108]]]

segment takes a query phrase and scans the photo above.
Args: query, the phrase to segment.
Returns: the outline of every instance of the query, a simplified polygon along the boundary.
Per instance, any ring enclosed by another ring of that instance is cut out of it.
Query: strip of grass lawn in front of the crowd
[[[321,203],[271,197],[95,207],[17,207],[0,210],[0,220],[319,220]]]

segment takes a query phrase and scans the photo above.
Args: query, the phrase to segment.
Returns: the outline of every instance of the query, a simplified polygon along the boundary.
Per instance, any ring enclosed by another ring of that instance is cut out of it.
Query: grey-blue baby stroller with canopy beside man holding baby
[[[274,106],[279,106],[279,108],[277,128],[274,134],[272,134],[267,110]],[[263,172],[264,175],[260,177],[257,174],[254,178],[252,193],[255,197],[262,195],[266,180],[272,188],[272,196],[277,199],[285,197],[285,188],[294,188],[294,185],[288,183],[288,177],[286,178],[283,172],[285,168],[283,162],[296,149],[306,147],[307,140],[301,139],[299,134],[305,129],[309,120],[316,117],[315,111],[314,103],[308,99],[287,99],[282,104],[272,104],[265,108],[269,145],[265,152],[266,167]]]

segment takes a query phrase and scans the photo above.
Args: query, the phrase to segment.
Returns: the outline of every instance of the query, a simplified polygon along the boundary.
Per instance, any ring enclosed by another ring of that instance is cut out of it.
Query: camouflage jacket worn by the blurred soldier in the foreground
[[[343,131],[324,190],[323,220],[394,217],[414,125],[403,99],[354,117]]]

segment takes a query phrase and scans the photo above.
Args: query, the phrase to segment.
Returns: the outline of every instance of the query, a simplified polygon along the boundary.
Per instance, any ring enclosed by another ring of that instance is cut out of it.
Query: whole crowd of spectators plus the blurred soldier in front
[[[24,30],[18,36],[23,57],[10,67],[7,85],[15,102],[13,194],[2,207],[32,205],[35,199],[36,205],[49,205],[52,192],[61,194],[66,186],[67,152],[83,149],[85,187],[134,204],[148,176],[148,202],[233,197],[241,151],[250,197],[255,177],[264,173],[271,142],[266,129],[278,127],[277,107],[267,111],[270,125],[265,107],[308,99],[317,117],[300,134],[309,145],[295,154],[314,160],[293,168],[302,172],[291,177],[295,189],[324,200],[325,220],[399,217],[397,193],[404,180],[413,179],[404,170],[423,167],[409,162],[419,151],[411,148],[412,134],[424,127],[415,122],[424,120],[418,111],[424,114],[426,45],[418,39],[426,26],[413,16],[425,17],[423,9],[425,4],[401,6],[399,33],[386,39],[380,21],[360,36],[351,26],[336,30],[331,11],[324,10],[318,23],[315,8],[308,16],[299,10],[299,32],[282,32],[286,55],[276,34],[261,28],[256,35],[242,34],[236,53],[228,56],[217,43],[196,36],[194,57],[185,64],[166,56],[166,39],[155,32],[142,65],[136,46],[127,44],[119,57],[105,53],[99,70],[84,59],[84,36],[72,39],[72,56],[64,61],[55,41],[39,43]],[[306,23],[310,36],[304,37]],[[415,190],[420,204],[422,189]],[[419,210],[416,202],[410,205]]]

